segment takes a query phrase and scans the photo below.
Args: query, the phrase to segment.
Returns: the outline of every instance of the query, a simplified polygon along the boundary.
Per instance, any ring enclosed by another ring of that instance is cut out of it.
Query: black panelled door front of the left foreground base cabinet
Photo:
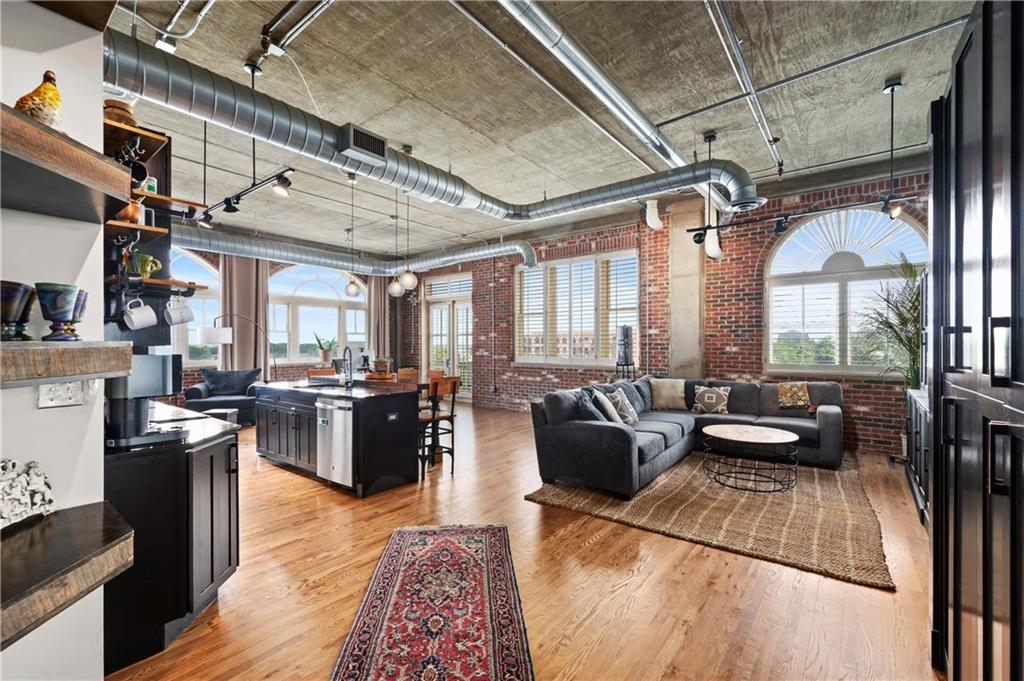
[[[217,440],[188,452],[191,485],[190,609],[206,606],[239,566],[239,445]]]

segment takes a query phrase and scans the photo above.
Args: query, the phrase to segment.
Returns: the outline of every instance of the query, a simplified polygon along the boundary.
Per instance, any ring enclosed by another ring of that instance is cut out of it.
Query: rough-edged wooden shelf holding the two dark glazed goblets
[[[0,344],[0,388],[113,378],[129,373],[129,341],[8,341]]]

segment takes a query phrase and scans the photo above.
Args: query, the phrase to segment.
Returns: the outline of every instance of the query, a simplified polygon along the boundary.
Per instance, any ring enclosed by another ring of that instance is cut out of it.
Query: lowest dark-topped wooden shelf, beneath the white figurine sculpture
[[[108,502],[4,527],[0,649],[131,567],[134,534]]]

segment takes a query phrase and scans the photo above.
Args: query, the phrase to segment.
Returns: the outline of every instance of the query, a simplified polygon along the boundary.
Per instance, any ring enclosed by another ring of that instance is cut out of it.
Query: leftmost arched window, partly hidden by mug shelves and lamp
[[[214,318],[220,314],[220,272],[195,253],[180,248],[171,249],[171,271],[174,279],[209,287],[196,291],[188,298],[195,318],[187,325],[171,328],[171,351],[180,353],[186,365],[215,365],[220,346],[200,344],[199,330],[212,327]]]

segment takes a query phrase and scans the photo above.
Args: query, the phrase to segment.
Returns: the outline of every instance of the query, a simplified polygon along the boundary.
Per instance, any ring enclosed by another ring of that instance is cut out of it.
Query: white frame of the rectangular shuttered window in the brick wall
[[[542,275],[542,287],[543,287],[543,299],[544,299],[544,309],[541,312],[542,327],[544,329],[544,348],[545,354],[542,356],[530,356],[530,355],[520,355],[519,354],[519,338],[522,328],[522,314],[520,312],[519,304],[519,279],[520,273],[527,269],[524,265],[520,264],[515,267],[513,284],[512,284],[512,308],[513,308],[513,320],[512,320],[512,357],[513,364],[529,366],[529,367],[572,367],[572,368],[593,368],[593,369],[613,369],[615,367],[615,354],[614,349],[609,353],[609,356],[602,357],[601,353],[603,351],[604,342],[607,340],[602,327],[602,323],[609,317],[610,308],[605,305],[605,300],[603,299],[601,292],[601,263],[610,260],[616,260],[621,258],[634,258],[637,263],[637,297],[636,297],[636,313],[637,313],[637,324],[636,333],[633,335],[634,342],[634,356],[639,348],[640,342],[640,318],[641,318],[641,303],[642,303],[642,289],[643,284],[640,279],[641,268],[640,268],[640,251],[639,249],[624,249],[617,251],[605,251],[600,253],[591,253],[583,256],[570,256],[567,258],[555,258],[551,260],[545,260],[538,263],[538,267],[544,272]],[[594,296],[594,307],[593,307],[593,320],[594,320],[594,354],[590,357],[573,357],[571,350],[571,340],[570,349],[568,356],[552,356],[547,354],[549,351],[549,328],[552,324],[551,315],[552,313],[557,313],[549,307],[550,296],[548,293],[548,286],[550,283],[550,274],[548,270],[552,267],[565,267],[567,271],[568,280],[568,310],[569,310],[569,330],[568,337],[571,339],[573,335],[572,330],[572,317],[573,317],[573,305],[572,305],[572,265],[579,262],[591,262],[594,264],[593,268],[593,296]],[[621,307],[616,309],[623,309]]]

